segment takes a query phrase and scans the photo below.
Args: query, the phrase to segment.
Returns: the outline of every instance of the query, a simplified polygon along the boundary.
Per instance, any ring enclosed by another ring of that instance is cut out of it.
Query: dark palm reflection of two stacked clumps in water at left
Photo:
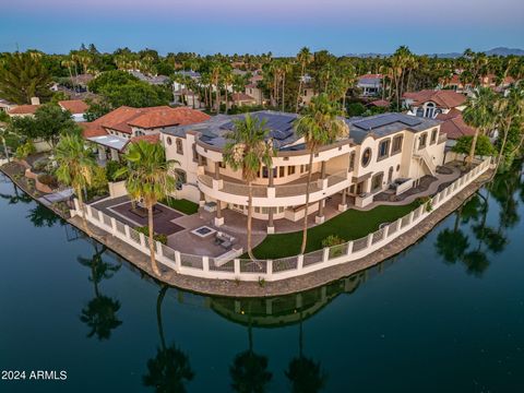
[[[111,278],[120,265],[105,262],[102,254],[107,248],[92,240],[95,252],[91,258],[78,257],[76,260],[84,266],[91,269],[90,282],[93,283],[95,297],[82,309],[80,320],[90,327],[87,337],[96,336],[99,341],[109,340],[111,332],[120,326],[122,322],[118,319],[117,312],[120,309],[120,301],[105,296],[100,293],[98,285],[104,279]]]

